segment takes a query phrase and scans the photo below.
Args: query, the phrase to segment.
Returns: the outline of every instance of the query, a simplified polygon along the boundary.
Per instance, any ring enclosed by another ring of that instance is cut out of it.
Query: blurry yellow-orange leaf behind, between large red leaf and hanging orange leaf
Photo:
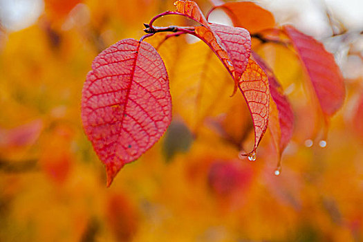
[[[202,41],[185,46],[170,81],[174,113],[183,118],[192,133],[198,133],[205,118],[225,109],[232,93],[231,81]]]

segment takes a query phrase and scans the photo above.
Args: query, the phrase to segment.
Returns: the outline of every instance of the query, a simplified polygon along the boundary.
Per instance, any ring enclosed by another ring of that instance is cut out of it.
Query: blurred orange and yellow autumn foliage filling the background
[[[197,2],[205,12],[211,8],[209,1]],[[216,59],[203,54],[201,43],[178,37],[159,48],[171,78],[174,121],[106,189],[104,167],[80,120],[84,78],[97,53],[120,39],[140,38],[142,23],[173,10],[174,1],[1,0],[0,241],[362,241],[358,2],[258,2],[279,24],[295,24],[337,57],[347,95],[331,121],[327,147],[306,147],[315,124],[295,55],[266,44],[258,51],[292,103],[294,136],[280,176],[273,174],[277,160],[268,133],[256,162],[239,160],[241,142],[253,142],[246,107],[241,97],[229,97],[232,82],[223,67],[210,64],[203,77],[229,83],[227,95],[212,102],[204,120],[194,115],[183,103],[185,90],[201,78],[198,66]],[[228,22],[218,12],[216,19]],[[191,22],[164,17],[157,24]]]

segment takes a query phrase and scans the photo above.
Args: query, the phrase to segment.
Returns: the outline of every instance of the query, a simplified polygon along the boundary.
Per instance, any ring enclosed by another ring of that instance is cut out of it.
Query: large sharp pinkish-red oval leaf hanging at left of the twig
[[[107,186],[139,158],[171,121],[165,65],[146,42],[122,39],[95,57],[82,91],[82,122],[106,165]]]

